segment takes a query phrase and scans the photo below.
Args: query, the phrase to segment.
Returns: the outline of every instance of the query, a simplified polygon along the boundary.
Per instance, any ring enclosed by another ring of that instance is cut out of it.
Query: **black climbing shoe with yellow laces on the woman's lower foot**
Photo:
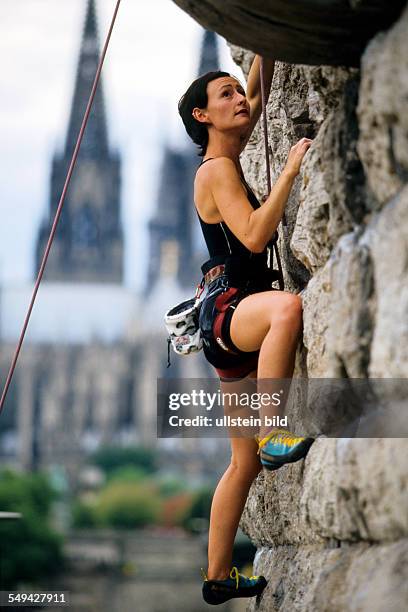
[[[208,604],[216,606],[234,597],[255,597],[266,587],[263,576],[247,578],[238,573],[234,566],[225,580],[208,580],[203,572],[203,598]]]

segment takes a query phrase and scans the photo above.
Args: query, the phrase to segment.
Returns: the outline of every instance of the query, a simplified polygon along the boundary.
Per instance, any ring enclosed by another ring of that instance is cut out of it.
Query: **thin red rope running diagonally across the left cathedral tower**
[[[3,410],[4,402],[5,402],[6,396],[7,396],[7,391],[8,391],[8,388],[10,386],[11,379],[13,377],[13,373],[14,373],[14,370],[15,370],[15,367],[16,367],[17,359],[18,359],[18,356],[20,354],[21,346],[23,344],[24,336],[25,336],[25,333],[26,333],[26,330],[27,330],[28,322],[30,320],[31,311],[33,309],[34,301],[35,301],[35,298],[36,298],[36,295],[37,295],[37,292],[38,292],[38,288],[40,286],[40,282],[41,282],[41,279],[43,277],[45,265],[47,263],[48,254],[49,254],[50,249],[51,249],[51,244],[52,244],[52,241],[54,239],[54,235],[55,235],[55,232],[56,232],[56,229],[57,229],[58,221],[59,221],[59,218],[61,216],[62,207],[63,207],[64,201],[65,201],[65,196],[66,196],[66,193],[67,193],[67,190],[68,190],[68,186],[69,186],[69,183],[70,183],[70,180],[71,180],[71,176],[72,176],[75,164],[76,164],[76,160],[77,160],[78,153],[79,153],[79,148],[80,148],[81,142],[82,142],[82,137],[83,137],[84,132],[85,132],[86,124],[88,123],[89,114],[90,114],[91,109],[92,109],[93,100],[94,100],[96,89],[98,87],[99,79],[100,79],[100,76],[101,76],[103,62],[105,60],[105,55],[106,55],[106,52],[108,50],[109,41],[110,41],[110,38],[111,38],[113,26],[115,25],[116,15],[118,14],[120,3],[121,3],[121,0],[117,0],[115,11],[113,13],[112,21],[111,21],[111,24],[110,24],[110,27],[109,27],[108,35],[106,37],[106,41],[105,41],[105,44],[103,46],[101,58],[99,60],[98,68],[96,70],[96,75],[95,75],[95,79],[94,79],[94,82],[93,82],[91,94],[89,96],[89,100],[88,100],[88,104],[87,104],[87,107],[86,107],[86,110],[85,110],[84,118],[82,120],[81,129],[79,130],[79,134],[78,134],[77,142],[76,142],[76,145],[75,145],[75,149],[74,149],[74,152],[72,154],[71,163],[70,163],[69,168],[68,168],[68,173],[67,173],[67,176],[66,176],[66,179],[65,179],[64,188],[62,190],[62,194],[61,194],[61,198],[60,198],[60,201],[59,201],[59,204],[58,204],[57,212],[55,213],[54,222],[52,224],[50,236],[48,238],[47,246],[45,248],[45,253],[44,253],[44,256],[43,256],[43,259],[42,259],[42,262],[41,262],[40,270],[38,272],[37,281],[36,281],[35,286],[34,286],[34,291],[33,291],[32,297],[31,297],[30,306],[28,307],[28,311],[27,311],[27,315],[26,315],[26,318],[25,318],[25,321],[24,321],[23,329],[21,331],[20,339],[18,341],[18,345],[17,345],[16,351],[14,353],[13,361],[11,363],[10,370],[9,370],[9,373],[8,373],[8,376],[7,376],[6,384],[4,385],[3,393],[2,393],[2,396],[1,396],[1,399],[0,399],[0,413]]]

